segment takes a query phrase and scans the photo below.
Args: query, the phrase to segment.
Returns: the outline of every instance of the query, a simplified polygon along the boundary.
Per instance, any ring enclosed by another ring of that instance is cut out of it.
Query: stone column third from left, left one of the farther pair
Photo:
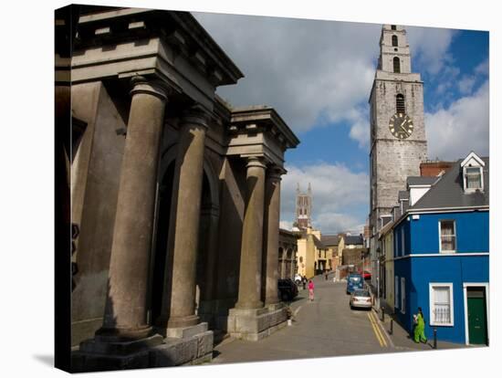
[[[246,209],[243,222],[239,295],[235,309],[259,309],[263,252],[265,170],[263,159],[248,158],[246,165]]]

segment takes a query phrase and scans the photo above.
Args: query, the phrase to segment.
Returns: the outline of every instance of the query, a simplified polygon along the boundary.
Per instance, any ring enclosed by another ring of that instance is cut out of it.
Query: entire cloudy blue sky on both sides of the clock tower
[[[300,144],[286,152],[281,227],[297,184],[313,192],[313,226],[359,234],[369,214],[368,99],[382,25],[193,13],[245,75],[217,93],[234,106],[274,107]],[[488,155],[488,33],[406,26],[424,81],[428,158]]]

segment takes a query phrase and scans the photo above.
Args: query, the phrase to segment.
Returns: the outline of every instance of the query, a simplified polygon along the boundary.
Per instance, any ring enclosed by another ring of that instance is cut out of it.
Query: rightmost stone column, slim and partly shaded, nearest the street
[[[280,216],[280,175],[284,170],[274,167],[268,170],[266,197],[266,226],[265,230],[265,258],[266,258],[266,279],[265,279],[265,304],[278,303],[277,279],[279,264],[279,216]]]

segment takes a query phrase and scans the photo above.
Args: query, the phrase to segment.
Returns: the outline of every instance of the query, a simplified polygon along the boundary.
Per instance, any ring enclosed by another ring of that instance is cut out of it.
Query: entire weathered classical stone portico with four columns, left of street
[[[297,137],[276,110],[215,95],[243,74],[192,15],[73,17],[71,76],[58,74],[82,129],[69,162],[72,369],[204,362],[214,331],[277,331],[280,176]]]

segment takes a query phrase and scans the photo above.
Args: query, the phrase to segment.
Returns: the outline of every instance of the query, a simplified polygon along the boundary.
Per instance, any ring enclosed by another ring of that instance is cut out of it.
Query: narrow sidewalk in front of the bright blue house
[[[382,326],[383,331],[385,331],[388,340],[392,341],[392,346],[396,350],[402,351],[434,351],[434,340],[430,339],[426,343],[416,343],[413,341],[410,334],[403,329],[403,326],[399,324],[395,318],[385,313],[384,320],[382,321],[382,310],[377,310],[373,307],[373,311]],[[392,320],[392,334],[391,333],[391,320]],[[447,341],[437,341],[437,349],[458,349],[466,348],[464,344],[457,344],[454,342]]]

